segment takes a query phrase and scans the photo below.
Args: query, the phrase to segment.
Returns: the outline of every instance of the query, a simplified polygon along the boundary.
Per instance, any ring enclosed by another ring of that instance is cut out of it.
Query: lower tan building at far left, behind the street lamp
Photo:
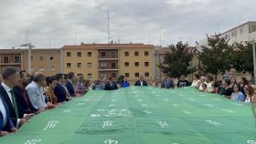
[[[31,73],[41,71],[46,76],[52,76],[60,72],[59,49],[32,49]],[[0,72],[5,67],[16,67],[18,70],[28,72],[27,49],[0,49]]]

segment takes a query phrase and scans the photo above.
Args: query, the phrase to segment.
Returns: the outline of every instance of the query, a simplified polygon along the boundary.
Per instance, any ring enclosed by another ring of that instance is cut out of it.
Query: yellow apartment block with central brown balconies
[[[153,77],[154,46],[144,44],[84,44],[63,46],[61,70],[74,71],[86,79],[120,75],[131,81],[139,76]]]

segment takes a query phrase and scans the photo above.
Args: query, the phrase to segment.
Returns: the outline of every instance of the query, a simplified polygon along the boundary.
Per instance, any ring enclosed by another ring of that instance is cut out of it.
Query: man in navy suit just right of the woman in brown
[[[57,74],[56,79],[57,79],[57,85],[54,88],[54,94],[58,98],[58,103],[69,101],[69,99],[67,98],[66,90],[64,87],[62,87],[62,85],[65,82],[64,74]]]

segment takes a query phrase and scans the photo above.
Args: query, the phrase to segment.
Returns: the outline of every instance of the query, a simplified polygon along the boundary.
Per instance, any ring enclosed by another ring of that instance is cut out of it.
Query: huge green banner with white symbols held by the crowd
[[[255,144],[251,104],[193,87],[89,91],[0,144]]]

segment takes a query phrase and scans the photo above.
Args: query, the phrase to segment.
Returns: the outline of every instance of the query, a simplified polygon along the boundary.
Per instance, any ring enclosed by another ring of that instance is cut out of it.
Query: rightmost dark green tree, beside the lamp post
[[[232,53],[232,67],[238,72],[248,72],[254,77],[253,51],[250,43],[246,45],[234,44]]]

